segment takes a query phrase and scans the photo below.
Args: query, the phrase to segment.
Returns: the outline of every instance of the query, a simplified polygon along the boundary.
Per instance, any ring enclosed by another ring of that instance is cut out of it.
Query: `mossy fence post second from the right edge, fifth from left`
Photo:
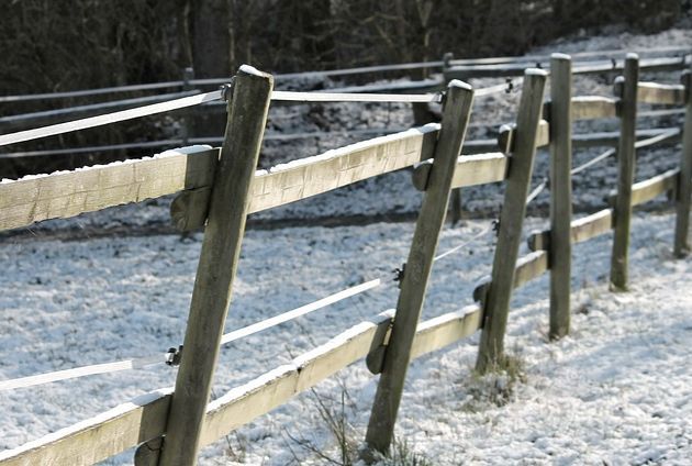
[[[636,152],[635,130],[637,125],[637,86],[639,84],[639,58],[627,54],[624,81],[616,81],[620,93],[620,143],[617,145],[617,198],[613,219],[613,254],[611,256],[611,289],[627,289],[627,263],[629,249],[629,223],[632,218],[632,185],[634,182]]]

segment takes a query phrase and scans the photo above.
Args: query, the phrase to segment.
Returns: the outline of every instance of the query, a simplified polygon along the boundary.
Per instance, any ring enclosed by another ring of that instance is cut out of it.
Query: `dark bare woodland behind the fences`
[[[691,9],[692,0],[0,0],[0,96],[179,80],[190,66],[196,78],[217,78],[243,63],[290,73],[439,60],[445,52],[520,55],[604,26],[660,31]],[[0,116],[141,95],[5,102]],[[145,118],[3,152],[161,140],[171,124]],[[138,154],[102,155],[11,160],[0,175]]]

